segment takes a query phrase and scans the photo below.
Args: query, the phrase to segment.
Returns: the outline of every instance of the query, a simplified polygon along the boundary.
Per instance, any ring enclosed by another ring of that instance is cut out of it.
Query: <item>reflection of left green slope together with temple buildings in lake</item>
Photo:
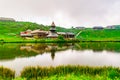
[[[68,44],[1,44],[0,60],[36,56],[44,52],[50,52],[52,59],[54,59],[56,51],[66,49],[69,49]]]

